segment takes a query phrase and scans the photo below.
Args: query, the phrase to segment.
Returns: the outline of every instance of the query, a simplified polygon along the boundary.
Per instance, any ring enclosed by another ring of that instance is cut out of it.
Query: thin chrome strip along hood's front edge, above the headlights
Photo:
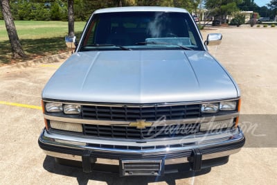
[[[202,103],[217,103],[222,101],[233,101],[239,100],[238,98],[230,98],[230,99],[217,99],[217,100],[204,100],[204,101],[193,101],[193,102],[176,102],[176,103],[147,103],[147,104],[123,104],[123,103],[85,103],[85,102],[72,102],[66,100],[48,100],[42,99],[44,102],[51,103],[63,103],[63,104],[73,104],[73,105],[96,105],[96,106],[106,106],[106,107],[165,107],[165,106],[174,106],[174,105],[193,105],[193,104],[202,104]]]

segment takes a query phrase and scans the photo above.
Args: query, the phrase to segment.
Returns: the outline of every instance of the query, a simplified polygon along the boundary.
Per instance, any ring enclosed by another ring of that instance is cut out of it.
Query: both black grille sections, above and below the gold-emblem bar
[[[113,107],[102,105],[82,105],[82,118],[107,121],[129,121],[138,120],[157,121],[159,118],[175,120],[183,118],[198,118],[201,116],[200,104],[198,105],[168,105],[151,107]],[[150,130],[151,129],[151,130]],[[170,132],[166,132],[166,129]],[[125,139],[154,139],[186,136],[198,132],[199,123],[173,126],[155,126],[137,129],[130,126],[113,125],[86,125],[84,134],[87,136],[98,136],[108,138]]]

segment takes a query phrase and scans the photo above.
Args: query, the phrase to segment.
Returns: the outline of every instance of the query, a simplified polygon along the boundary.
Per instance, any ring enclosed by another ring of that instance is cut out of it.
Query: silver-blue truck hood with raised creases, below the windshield
[[[237,98],[206,51],[88,51],[57,69],[42,98],[93,103],[173,103]]]

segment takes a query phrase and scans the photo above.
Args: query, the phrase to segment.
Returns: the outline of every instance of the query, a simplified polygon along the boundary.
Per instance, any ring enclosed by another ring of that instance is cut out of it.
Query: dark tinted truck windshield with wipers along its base
[[[184,12],[106,12],[93,15],[79,51],[140,49],[204,50]]]

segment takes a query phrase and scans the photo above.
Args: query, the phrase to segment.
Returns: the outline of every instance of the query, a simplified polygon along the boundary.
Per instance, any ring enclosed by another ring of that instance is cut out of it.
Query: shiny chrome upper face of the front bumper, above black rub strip
[[[145,149],[145,150],[126,150],[126,149],[118,149],[118,148],[99,148],[92,146],[77,146],[69,143],[60,143],[56,142],[55,139],[61,139],[66,141],[76,141],[81,143],[101,143],[102,145],[109,146],[170,146],[181,143],[193,143],[188,146],[178,146],[172,148],[159,148],[159,149]],[[199,136],[187,136],[183,139],[175,139],[168,141],[148,141],[145,143],[136,143],[135,141],[113,141],[113,140],[99,140],[99,139],[87,139],[78,136],[65,136],[62,134],[49,134],[45,130],[42,131],[42,134],[39,136],[39,141],[45,143],[50,146],[59,146],[65,148],[74,148],[78,150],[94,150],[99,152],[108,152],[108,153],[123,153],[123,154],[143,154],[144,156],[150,156],[159,153],[159,155],[168,155],[174,154],[175,152],[181,152],[184,150],[191,150],[193,148],[210,148],[224,146],[226,144],[230,144],[233,142],[241,141],[244,139],[244,134],[242,130],[238,127],[238,129],[233,130],[233,132],[225,132],[221,134],[206,134]]]

